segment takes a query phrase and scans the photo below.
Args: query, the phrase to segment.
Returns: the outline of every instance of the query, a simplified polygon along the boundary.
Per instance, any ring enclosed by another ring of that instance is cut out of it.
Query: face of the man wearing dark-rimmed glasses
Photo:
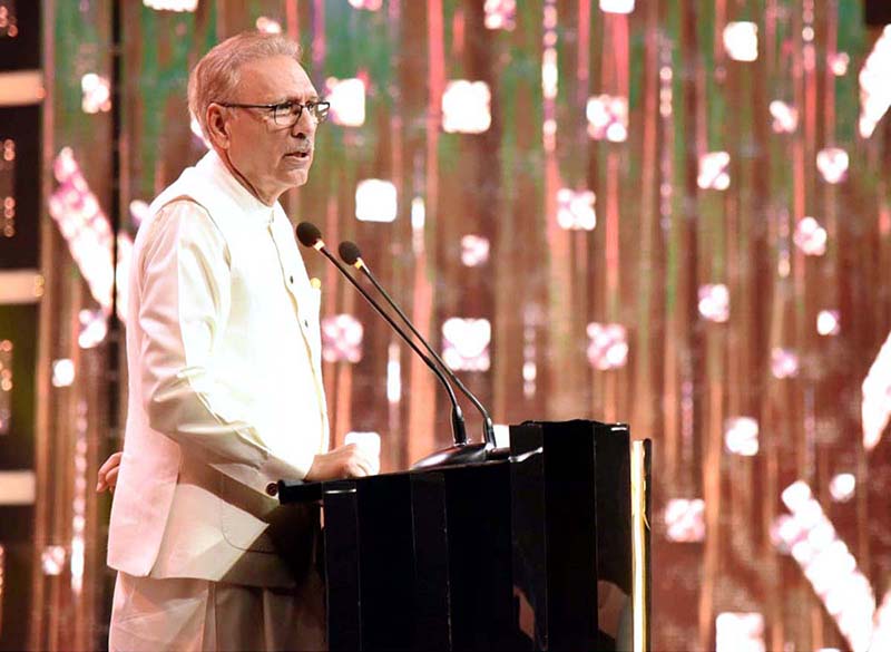
[[[294,59],[268,57],[242,66],[234,104],[280,104],[317,100],[309,76]],[[224,149],[231,165],[254,188],[258,198],[272,204],[310,176],[315,145],[316,120],[303,109],[293,126],[276,124],[272,111],[228,108],[225,124],[228,139]]]

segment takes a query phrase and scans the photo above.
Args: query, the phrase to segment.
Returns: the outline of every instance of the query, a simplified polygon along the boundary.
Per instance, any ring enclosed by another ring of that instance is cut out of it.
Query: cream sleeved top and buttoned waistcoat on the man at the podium
[[[327,449],[319,304],[282,207],[215,153],[153,203],[130,270],[111,567],[294,586],[278,549],[311,517],[283,516],[266,487]]]

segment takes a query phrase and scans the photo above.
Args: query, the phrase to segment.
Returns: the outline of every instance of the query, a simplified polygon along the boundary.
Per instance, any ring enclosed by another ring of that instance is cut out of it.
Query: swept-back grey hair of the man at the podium
[[[214,101],[232,101],[242,66],[285,56],[298,61],[300,45],[277,33],[244,31],[214,46],[202,57],[188,77],[188,109],[209,139],[207,107]]]

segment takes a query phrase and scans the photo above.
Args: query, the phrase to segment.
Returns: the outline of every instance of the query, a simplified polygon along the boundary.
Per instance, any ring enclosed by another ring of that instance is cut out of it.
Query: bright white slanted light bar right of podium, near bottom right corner
[[[785,531],[795,536],[785,542],[792,556],[851,648],[868,650],[875,612],[869,581],[805,483],[786,487],[782,499],[800,526]]]

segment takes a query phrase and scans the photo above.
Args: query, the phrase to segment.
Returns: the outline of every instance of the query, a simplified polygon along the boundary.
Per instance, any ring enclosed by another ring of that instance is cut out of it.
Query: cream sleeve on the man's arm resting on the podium
[[[261,493],[280,478],[303,478],[311,454],[273,456],[256,426],[215,391],[210,359],[229,314],[232,271],[226,242],[207,212],[190,201],[161,208],[134,263],[149,426]]]

